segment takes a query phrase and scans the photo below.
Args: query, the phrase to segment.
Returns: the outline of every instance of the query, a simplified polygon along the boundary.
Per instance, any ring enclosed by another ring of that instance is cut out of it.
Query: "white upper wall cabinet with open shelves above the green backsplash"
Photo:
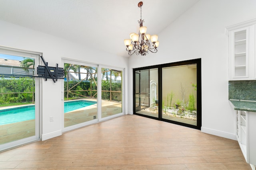
[[[226,27],[229,80],[256,80],[255,25],[251,20]]]

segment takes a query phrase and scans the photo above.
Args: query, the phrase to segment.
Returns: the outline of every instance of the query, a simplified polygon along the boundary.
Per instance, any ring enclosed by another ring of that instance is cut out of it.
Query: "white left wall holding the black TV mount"
[[[104,64],[125,68],[124,77],[127,77],[128,58],[114,56],[109,53],[87,48],[83,45],[66,41],[52,35],[20,27],[0,20],[0,45],[36,51],[43,53],[49,66],[61,65],[61,57],[77,59],[89,63]],[[125,81],[126,83],[127,81]],[[42,81],[42,136],[54,137],[61,134],[61,85],[63,80],[54,83],[52,80]],[[127,83],[124,84],[127,93]],[[125,95],[127,96],[127,95]],[[124,106],[127,106],[127,97]],[[124,113],[127,107],[124,107]],[[50,116],[54,121],[50,122]],[[47,138],[47,137],[46,137]]]

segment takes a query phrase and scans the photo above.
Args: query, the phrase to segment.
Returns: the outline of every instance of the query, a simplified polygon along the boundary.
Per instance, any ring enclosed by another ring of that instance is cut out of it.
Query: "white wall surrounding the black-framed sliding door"
[[[255,0],[200,0],[166,27],[158,35],[158,53],[129,58],[128,112],[132,113],[131,68],[202,58],[202,131],[235,139],[225,27],[256,18],[255,9]]]

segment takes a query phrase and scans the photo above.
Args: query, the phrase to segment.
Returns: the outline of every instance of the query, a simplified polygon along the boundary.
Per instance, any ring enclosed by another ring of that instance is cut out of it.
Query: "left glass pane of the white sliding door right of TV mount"
[[[97,68],[64,63],[64,127],[97,119]]]

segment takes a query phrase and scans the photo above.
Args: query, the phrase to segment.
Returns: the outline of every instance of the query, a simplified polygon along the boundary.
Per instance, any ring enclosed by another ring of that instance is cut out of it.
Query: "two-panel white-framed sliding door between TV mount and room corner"
[[[123,69],[62,59],[62,131],[70,131],[123,113]]]

